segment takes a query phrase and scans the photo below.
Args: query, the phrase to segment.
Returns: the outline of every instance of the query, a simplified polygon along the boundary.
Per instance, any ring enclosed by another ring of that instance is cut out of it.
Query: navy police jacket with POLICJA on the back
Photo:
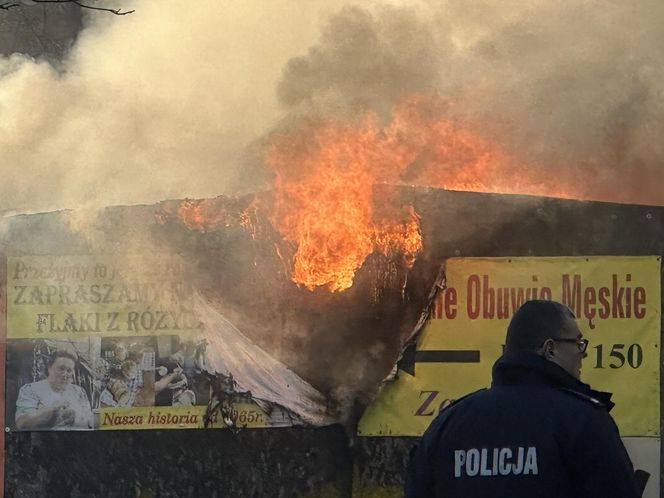
[[[637,498],[608,393],[528,352],[460,399],[415,448],[406,498]]]

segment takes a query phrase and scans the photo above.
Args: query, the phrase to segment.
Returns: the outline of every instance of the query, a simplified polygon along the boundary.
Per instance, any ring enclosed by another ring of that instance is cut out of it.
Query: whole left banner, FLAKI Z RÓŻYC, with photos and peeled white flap
[[[259,428],[324,399],[182,277],[98,256],[6,260],[8,430]]]

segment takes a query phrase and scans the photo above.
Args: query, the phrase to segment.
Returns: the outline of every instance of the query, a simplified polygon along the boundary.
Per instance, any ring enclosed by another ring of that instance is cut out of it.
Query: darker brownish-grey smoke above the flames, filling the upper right
[[[385,115],[434,89],[543,181],[664,203],[664,4],[431,4],[344,9],[289,62],[282,104]]]

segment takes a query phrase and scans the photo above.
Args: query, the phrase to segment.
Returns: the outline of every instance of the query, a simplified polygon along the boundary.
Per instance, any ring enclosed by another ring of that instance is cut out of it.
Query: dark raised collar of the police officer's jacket
[[[528,351],[511,351],[503,354],[493,365],[492,386],[539,385],[576,392],[598,400],[607,411],[615,406],[611,393],[595,391],[568,374],[559,365]]]

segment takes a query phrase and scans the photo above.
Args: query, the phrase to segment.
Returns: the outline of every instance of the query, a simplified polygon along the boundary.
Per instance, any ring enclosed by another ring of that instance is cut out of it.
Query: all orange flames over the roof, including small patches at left
[[[269,218],[293,244],[292,279],[308,289],[342,291],[374,253],[402,257],[410,268],[422,249],[412,206],[376,213],[374,186],[410,184],[500,193],[574,196],[560,179],[529,177],[519,161],[458,117],[436,96],[404,99],[388,123],[368,112],[352,121],[309,121],[274,134],[265,163],[274,173]],[[235,220],[255,236],[250,206]],[[184,201],[178,215],[190,229],[228,224],[217,203]],[[237,215],[236,215],[237,216]],[[281,252],[279,252],[281,255]]]

